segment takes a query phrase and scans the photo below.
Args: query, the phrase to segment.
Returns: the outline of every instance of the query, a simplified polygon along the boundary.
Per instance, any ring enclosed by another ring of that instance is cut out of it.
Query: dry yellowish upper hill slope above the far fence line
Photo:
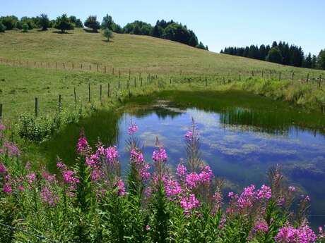
[[[250,58],[215,54],[165,39],[140,35],[114,34],[112,42],[105,42],[101,33],[71,30],[58,34],[54,30],[28,33],[8,31],[0,35],[0,56],[9,61],[29,63],[49,62],[52,68],[88,69],[89,64],[100,64],[100,70],[129,69],[141,73],[189,73],[208,75],[212,73],[250,73],[252,70],[277,70],[296,75],[319,71],[281,66]],[[40,65],[40,64],[37,64]],[[108,71],[107,71],[108,72]],[[316,75],[316,74],[315,74]],[[288,77],[290,75],[288,74]]]

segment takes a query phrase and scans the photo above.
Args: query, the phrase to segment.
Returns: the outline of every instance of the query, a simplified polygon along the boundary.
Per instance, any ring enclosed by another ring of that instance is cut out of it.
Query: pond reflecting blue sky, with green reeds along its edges
[[[244,92],[162,92],[131,99],[114,113],[100,111],[78,125],[69,125],[42,144],[49,168],[58,155],[73,163],[81,127],[90,144],[100,139],[119,149],[122,170],[129,155],[125,141],[131,120],[147,161],[155,139],[165,147],[171,167],[185,158],[184,134],[194,118],[199,130],[201,158],[215,175],[226,179],[225,191],[268,182],[267,172],[279,165],[291,185],[312,199],[310,220],[325,222],[325,116],[307,113],[280,101]]]

